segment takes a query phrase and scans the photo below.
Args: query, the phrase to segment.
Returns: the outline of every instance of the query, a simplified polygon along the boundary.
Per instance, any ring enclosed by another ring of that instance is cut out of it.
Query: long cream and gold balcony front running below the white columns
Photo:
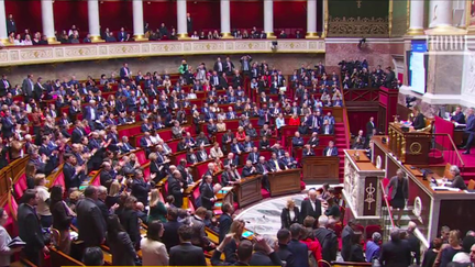
[[[272,41],[269,40],[93,43],[41,47],[9,46],[0,51],[0,67],[126,57],[242,53],[314,54],[325,52],[324,40],[278,40],[277,49],[273,51],[270,46]]]

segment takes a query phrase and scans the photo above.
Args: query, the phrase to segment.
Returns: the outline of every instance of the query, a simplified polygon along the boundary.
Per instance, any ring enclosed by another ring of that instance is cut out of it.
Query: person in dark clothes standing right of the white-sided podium
[[[393,209],[398,210],[398,219],[396,221],[396,226],[399,227],[402,211],[406,207],[406,200],[409,198],[408,179],[405,177],[405,173],[402,171],[402,169],[398,169],[396,171],[396,176],[389,180],[389,183],[386,187],[386,193],[384,196],[385,198],[387,198],[389,189],[393,189],[390,205],[393,207]]]

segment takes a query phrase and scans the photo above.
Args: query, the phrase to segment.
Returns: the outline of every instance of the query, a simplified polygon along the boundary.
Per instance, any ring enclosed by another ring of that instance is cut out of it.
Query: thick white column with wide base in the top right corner
[[[411,1],[411,4],[415,1]],[[432,35],[453,35],[465,34],[466,30],[452,26],[452,1],[431,0],[429,13],[429,30],[426,34]],[[412,14],[411,14],[412,18]]]

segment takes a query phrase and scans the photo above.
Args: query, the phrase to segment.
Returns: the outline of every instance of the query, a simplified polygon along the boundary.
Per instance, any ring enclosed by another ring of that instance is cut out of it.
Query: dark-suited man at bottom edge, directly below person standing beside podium
[[[411,252],[408,242],[400,238],[400,230],[394,227],[390,241],[382,246],[379,263],[383,266],[406,267],[411,265]]]

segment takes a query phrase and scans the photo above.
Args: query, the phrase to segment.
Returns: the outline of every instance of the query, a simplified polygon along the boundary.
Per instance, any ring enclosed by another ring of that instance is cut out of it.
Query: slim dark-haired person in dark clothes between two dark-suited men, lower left
[[[69,229],[73,218],[76,215],[69,207],[63,201],[63,187],[54,186],[51,191],[49,210],[53,215],[53,227],[59,231],[60,240],[58,244],[59,251],[69,254],[70,235]]]

